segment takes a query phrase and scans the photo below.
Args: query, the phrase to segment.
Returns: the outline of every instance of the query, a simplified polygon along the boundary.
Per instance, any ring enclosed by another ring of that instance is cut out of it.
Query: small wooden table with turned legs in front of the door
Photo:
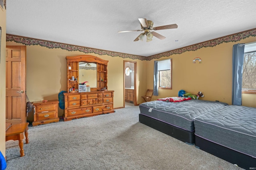
[[[29,143],[28,124],[29,123],[14,124],[11,127],[9,127],[9,129],[7,129],[5,133],[5,141],[9,141],[9,140],[19,141],[20,157],[25,155],[23,150],[23,139],[24,139],[23,133],[25,133],[26,143]]]

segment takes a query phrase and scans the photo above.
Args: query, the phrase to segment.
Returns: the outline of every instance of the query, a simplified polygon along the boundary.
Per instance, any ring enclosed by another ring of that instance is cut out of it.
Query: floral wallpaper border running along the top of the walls
[[[180,49],[166,51],[164,53],[152,55],[149,57],[117,53],[114,51],[104,51],[104,50],[100,50],[100,49],[93,49],[93,48],[81,47],[81,46],[76,46],[76,45],[68,45],[68,44],[56,43],[56,42],[45,41],[45,40],[40,40],[40,39],[33,39],[33,38],[28,38],[28,37],[20,37],[18,35],[6,34],[6,41],[14,41],[16,43],[22,43],[23,45],[40,45],[42,47],[47,47],[49,49],[60,48],[60,49],[64,49],[67,51],[80,51],[80,52],[83,52],[86,54],[94,53],[97,55],[108,55],[108,56],[112,56],[112,57],[122,57],[122,58],[130,58],[130,59],[139,59],[142,61],[144,61],[144,60],[150,61],[152,59],[168,57],[168,56],[174,55],[174,54],[182,54],[182,53],[185,53],[186,51],[196,51],[203,47],[215,47],[216,45],[219,45],[221,43],[236,42],[236,41],[240,41],[241,39],[246,39],[250,36],[256,37],[256,28],[250,29],[250,30],[247,30],[247,31],[244,31],[241,33],[233,34],[233,35],[227,35],[225,37],[220,37],[220,38],[213,39],[210,41],[205,41],[202,43],[190,45],[187,47],[182,47]]]

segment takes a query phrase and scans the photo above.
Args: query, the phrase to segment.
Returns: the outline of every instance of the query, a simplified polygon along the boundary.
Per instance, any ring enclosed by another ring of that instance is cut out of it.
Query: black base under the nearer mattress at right
[[[246,170],[256,169],[256,158],[243,154],[236,150],[229,149],[222,145],[218,145],[195,135],[195,147],[214,156],[222,158],[232,164],[237,164],[239,167]]]

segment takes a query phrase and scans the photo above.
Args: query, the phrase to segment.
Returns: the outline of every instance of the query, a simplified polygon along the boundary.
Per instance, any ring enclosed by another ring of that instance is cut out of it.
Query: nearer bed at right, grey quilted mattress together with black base
[[[229,105],[194,119],[195,145],[245,169],[256,169],[256,108]]]

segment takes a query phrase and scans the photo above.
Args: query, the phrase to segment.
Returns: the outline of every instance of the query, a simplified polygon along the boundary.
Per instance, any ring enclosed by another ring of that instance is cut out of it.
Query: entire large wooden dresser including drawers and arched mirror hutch
[[[92,55],[67,56],[64,121],[113,113],[114,91],[108,90],[108,61]],[[90,86],[90,91],[81,90]]]

